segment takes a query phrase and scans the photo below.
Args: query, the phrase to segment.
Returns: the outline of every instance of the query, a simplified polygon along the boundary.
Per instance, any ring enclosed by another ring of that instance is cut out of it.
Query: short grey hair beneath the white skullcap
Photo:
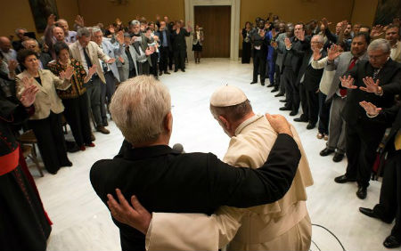
[[[250,105],[250,101],[246,100],[241,102],[240,104],[227,106],[227,107],[217,107],[210,105],[210,112],[214,117],[224,116],[231,121],[238,121],[245,115],[249,114],[252,111],[252,106]]]

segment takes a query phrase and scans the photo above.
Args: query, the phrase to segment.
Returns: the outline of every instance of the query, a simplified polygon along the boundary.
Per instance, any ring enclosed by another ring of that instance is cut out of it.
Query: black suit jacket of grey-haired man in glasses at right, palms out
[[[359,61],[354,69],[348,71],[346,75],[354,77],[354,85],[365,86],[364,77],[373,76],[373,68],[369,61]],[[366,93],[360,89],[348,89],[347,102],[342,110],[344,120],[353,126],[380,126],[366,117],[366,112],[359,105],[360,101],[372,102],[382,109],[390,108],[394,105],[394,95],[401,93],[401,65],[396,61],[389,59],[381,68],[377,79],[380,79],[379,85],[383,88],[383,95],[375,93]]]

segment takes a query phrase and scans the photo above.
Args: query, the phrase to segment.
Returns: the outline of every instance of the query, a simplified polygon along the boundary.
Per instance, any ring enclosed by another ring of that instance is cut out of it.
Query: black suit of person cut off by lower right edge
[[[381,183],[381,197],[379,204],[373,207],[373,211],[385,222],[392,222],[396,218],[396,224],[391,230],[391,235],[401,242],[401,150],[396,150],[394,142],[398,131],[401,129],[401,105],[390,109],[384,109],[372,120],[390,126],[389,136],[382,142],[384,152],[388,153],[384,166],[383,182]]]

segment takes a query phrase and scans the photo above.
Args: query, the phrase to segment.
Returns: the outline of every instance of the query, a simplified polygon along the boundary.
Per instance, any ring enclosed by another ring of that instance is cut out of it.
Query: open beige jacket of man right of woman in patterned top
[[[101,65],[99,59],[102,61],[109,61],[110,57],[108,55],[106,55],[105,53],[103,53],[103,50],[101,49],[101,47],[99,47],[99,45],[97,45],[93,41],[90,41],[89,44],[87,44],[87,49],[89,51],[88,55],[91,58],[92,64],[96,65],[96,67],[97,67],[96,68],[97,75],[102,80],[102,82],[104,84],[106,84],[106,79],[104,78],[102,65]],[[78,40],[70,45],[70,52],[71,52],[72,57],[74,59],[80,61],[81,63],[83,60],[85,60],[85,59],[81,58]]]

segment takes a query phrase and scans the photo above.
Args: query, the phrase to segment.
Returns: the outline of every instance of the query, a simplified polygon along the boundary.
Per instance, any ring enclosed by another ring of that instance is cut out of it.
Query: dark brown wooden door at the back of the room
[[[203,28],[202,58],[229,58],[231,6],[195,6],[195,25]]]

